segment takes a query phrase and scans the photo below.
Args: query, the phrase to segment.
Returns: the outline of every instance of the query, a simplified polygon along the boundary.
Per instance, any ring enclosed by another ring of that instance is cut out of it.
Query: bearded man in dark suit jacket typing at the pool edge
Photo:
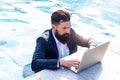
[[[65,10],[57,10],[51,15],[52,29],[45,30],[36,40],[31,68],[34,72],[61,67],[78,68],[77,59],[64,57],[77,51],[77,46],[91,48],[96,46],[94,39],[84,38],[71,28],[71,16]]]

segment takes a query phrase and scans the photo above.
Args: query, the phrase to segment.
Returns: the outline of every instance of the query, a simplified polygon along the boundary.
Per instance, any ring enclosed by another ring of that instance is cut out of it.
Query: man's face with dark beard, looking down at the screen
[[[56,38],[63,44],[67,43],[70,37],[70,21],[62,22],[55,28],[55,36]]]

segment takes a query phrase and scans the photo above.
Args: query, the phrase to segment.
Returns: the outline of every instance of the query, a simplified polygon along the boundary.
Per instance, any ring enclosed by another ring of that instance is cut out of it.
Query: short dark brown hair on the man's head
[[[65,10],[57,10],[51,15],[51,23],[58,25],[61,22],[70,21],[70,14]]]

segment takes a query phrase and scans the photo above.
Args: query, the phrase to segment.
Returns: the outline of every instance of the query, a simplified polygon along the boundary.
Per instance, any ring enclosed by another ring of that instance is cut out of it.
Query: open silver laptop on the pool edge
[[[74,71],[75,73],[80,72],[83,69],[86,69],[98,62],[101,62],[101,60],[104,57],[104,54],[108,48],[110,41],[105,42],[95,48],[87,49],[83,51],[77,51],[74,54],[71,54],[66,59],[69,58],[76,58],[80,60],[80,65],[78,69],[75,69],[74,67],[71,67],[70,70]]]

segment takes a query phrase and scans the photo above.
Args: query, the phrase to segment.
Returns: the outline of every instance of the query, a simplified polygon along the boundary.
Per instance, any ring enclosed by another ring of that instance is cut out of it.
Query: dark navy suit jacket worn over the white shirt
[[[70,40],[67,43],[70,54],[77,51],[77,45],[89,47],[89,39],[77,35],[73,29],[71,29],[70,32]],[[42,36],[36,40],[36,48],[33,54],[31,68],[34,72],[43,69],[57,69],[58,58],[58,48],[52,35],[52,29],[46,30]]]

